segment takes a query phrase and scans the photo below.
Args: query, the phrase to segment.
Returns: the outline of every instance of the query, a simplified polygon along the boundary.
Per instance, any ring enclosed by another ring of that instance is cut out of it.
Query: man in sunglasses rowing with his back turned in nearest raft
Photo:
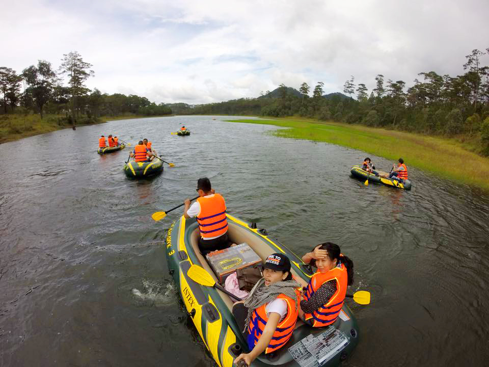
[[[197,192],[199,198],[192,205],[189,199],[184,201],[183,216],[197,217],[200,230],[199,249],[205,256],[209,252],[230,247],[226,202],[220,194],[215,193],[207,177],[198,179]]]

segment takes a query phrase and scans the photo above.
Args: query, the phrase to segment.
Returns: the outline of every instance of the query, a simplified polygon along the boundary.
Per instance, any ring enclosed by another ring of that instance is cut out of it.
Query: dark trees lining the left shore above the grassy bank
[[[75,51],[63,55],[58,69],[45,60],[20,73],[0,67],[0,114],[34,112],[41,118],[46,113],[61,114],[75,122],[80,118],[96,120],[99,116],[172,113],[166,104],[156,104],[146,97],[90,90],[85,83],[94,76],[92,66]]]

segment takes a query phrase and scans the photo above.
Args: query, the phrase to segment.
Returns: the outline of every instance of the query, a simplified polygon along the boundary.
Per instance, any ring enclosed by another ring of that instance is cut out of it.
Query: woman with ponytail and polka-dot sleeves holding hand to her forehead
[[[305,287],[299,315],[313,327],[331,325],[343,306],[346,287],[353,283],[353,262],[331,242],[316,246],[302,260],[318,271]]]

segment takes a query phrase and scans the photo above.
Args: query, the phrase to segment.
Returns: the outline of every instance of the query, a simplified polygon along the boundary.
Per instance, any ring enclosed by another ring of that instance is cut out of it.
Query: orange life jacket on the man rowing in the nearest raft
[[[218,237],[228,230],[226,202],[219,194],[206,198],[199,197],[200,213],[197,217],[202,238]]]

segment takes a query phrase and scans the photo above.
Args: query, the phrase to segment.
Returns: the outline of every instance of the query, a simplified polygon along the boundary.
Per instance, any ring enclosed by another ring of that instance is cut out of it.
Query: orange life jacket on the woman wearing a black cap
[[[298,290],[295,290],[295,293],[297,294],[298,304],[301,295]],[[274,335],[271,337],[270,343],[265,349],[265,354],[273,352],[287,343],[292,336],[292,331],[294,331],[295,323],[297,322],[298,310],[297,307],[295,307],[295,301],[284,294],[280,294],[277,299],[283,299],[287,302],[287,314],[285,315],[284,320],[277,325]],[[250,351],[258,342],[260,335],[265,329],[266,322],[268,321],[265,306],[266,305],[262,305],[255,308],[251,314],[250,325],[248,326],[248,347],[250,348]]]

